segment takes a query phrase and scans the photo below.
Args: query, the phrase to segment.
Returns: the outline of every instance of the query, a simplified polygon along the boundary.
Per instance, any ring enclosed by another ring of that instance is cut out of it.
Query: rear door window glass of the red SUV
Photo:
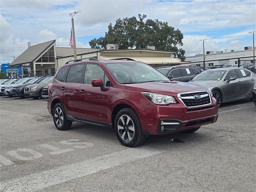
[[[72,65],[68,71],[67,83],[81,83],[84,64]]]

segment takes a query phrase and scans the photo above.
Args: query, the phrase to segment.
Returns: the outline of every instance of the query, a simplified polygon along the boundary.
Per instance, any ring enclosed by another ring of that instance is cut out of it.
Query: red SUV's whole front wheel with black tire
[[[115,119],[115,131],[120,143],[126,147],[139,146],[146,140],[138,115],[132,108],[124,108],[118,112]]]

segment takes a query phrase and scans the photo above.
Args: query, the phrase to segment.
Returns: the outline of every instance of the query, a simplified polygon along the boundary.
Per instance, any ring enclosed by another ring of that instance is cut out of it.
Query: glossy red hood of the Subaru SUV
[[[125,84],[127,90],[137,92],[153,92],[177,96],[178,93],[208,90],[206,87],[193,83],[179,81],[171,82],[146,82],[138,84]]]

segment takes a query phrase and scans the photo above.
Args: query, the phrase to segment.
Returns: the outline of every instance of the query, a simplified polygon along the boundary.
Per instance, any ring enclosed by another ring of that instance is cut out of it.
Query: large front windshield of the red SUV
[[[154,81],[170,81],[162,73],[145,63],[127,62],[127,63],[109,63],[106,67],[112,76],[120,84],[144,83]]]

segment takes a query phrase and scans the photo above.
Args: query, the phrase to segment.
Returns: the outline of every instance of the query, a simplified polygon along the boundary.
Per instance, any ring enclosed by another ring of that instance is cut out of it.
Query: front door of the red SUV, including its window
[[[102,79],[105,90],[101,91],[100,87],[93,87],[93,79]],[[82,121],[89,120],[91,123],[100,124],[109,123],[109,103],[111,82],[98,64],[86,64],[83,84],[80,86],[80,116]]]

